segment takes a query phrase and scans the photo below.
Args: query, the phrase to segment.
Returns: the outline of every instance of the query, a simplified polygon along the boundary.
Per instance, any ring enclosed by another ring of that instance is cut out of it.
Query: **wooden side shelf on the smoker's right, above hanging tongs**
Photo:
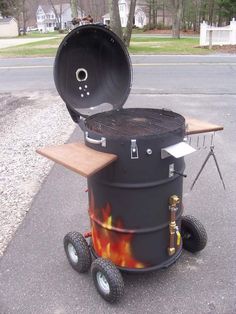
[[[186,134],[199,134],[199,133],[208,133],[222,131],[224,128],[220,125],[204,122],[197,119],[186,118],[185,121],[187,124]]]

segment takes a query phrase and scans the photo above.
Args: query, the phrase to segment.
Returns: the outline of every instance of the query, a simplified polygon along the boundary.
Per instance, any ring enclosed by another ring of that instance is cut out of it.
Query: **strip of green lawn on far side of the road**
[[[33,35],[33,34],[32,34]],[[35,37],[43,37],[45,34],[35,34]],[[32,57],[32,56],[55,56],[63,35],[55,33],[57,38],[42,40],[15,47],[0,49],[0,57]],[[50,36],[55,36],[50,33]],[[22,36],[23,37],[23,36]],[[49,37],[46,34],[45,37]],[[28,36],[24,36],[28,38]],[[136,36],[132,38],[129,52],[131,54],[208,54],[208,49],[200,48],[198,38],[163,38]]]

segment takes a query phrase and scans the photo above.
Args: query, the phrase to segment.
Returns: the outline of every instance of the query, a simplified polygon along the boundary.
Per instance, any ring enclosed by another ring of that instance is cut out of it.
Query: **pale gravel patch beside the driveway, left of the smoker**
[[[53,92],[0,94],[0,257],[54,165],[36,149],[65,143],[75,129]]]

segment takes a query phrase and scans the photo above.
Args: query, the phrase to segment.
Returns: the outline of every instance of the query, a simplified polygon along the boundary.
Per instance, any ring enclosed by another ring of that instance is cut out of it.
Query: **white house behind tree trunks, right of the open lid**
[[[120,21],[121,26],[126,27],[129,15],[130,0],[119,0],[119,12],[120,12]],[[144,0],[137,0],[135,14],[134,14],[134,25],[143,28],[149,22],[149,13],[148,5]],[[163,11],[157,10],[157,23],[163,22]],[[103,15],[103,23],[110,23],[109,13]],[[172,16],[170,12],[165,12],[165,25],[172,25]]]

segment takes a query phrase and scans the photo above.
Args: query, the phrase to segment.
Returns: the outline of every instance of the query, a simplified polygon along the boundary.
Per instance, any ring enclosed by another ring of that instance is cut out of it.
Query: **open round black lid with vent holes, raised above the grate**
[[[71,114],[120,109],[132,84],[128,51],[121,39],[103,25],[77,27],[58,48],[54,81]]]

